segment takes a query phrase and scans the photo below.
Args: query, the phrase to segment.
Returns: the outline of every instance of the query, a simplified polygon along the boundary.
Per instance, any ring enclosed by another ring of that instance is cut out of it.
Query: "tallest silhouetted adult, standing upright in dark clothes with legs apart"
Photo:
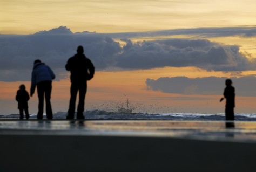
[[[79,102],[77,107],[77,119],[84,119],[84,101],[85,94],[87,91],[87,80],[93,78],[95,73],[95,67],[91,63],[91,60],[84,55],[83,46],[77,47],[77,54],[69,58],[65,65],[67,71],[70,71],[70,102],[69,111],[66,119],[74,119],[75,108],[76,108],[76,97],[79,90]]]

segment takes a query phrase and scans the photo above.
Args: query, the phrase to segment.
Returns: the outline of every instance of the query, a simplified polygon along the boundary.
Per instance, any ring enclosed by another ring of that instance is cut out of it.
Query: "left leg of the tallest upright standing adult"
[[[70,87],[71,97],[70,97],[70,101],[69,101],[68,116],[66,116],[66,119],[74,119],[77,91],[78,91],[77,84],[71,84],[71,87]]]

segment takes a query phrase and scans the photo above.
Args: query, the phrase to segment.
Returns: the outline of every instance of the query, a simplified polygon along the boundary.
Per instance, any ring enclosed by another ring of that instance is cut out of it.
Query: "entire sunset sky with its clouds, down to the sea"
[[[68,110],[66,61],[83,45],[96,67],[86,109],[224,113],[225,79],[235,113],[255,113],[256,2],[0,1],[0,114],[18,113],[20,84],[30,90],[33,61],[56,74],[53,112]],[[126,96],[124,95],[126,94]],[[37,94],[29,100],[37,113]]]

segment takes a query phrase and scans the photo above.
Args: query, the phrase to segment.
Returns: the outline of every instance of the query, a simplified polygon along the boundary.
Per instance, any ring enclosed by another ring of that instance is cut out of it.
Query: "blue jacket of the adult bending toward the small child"
[[[38,82],[51,81],[53,79],[55,79],[55,74],[49,66],[44,63],[35,63],[31,76],[30,95],[35,92]]]

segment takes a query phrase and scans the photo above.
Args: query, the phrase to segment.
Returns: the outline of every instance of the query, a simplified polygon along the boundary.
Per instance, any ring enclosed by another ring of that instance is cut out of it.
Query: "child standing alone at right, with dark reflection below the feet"
[[[226,120],[234,121],[235,88],[232,86],[231,79],[226,79],[226,88],[224,89],[223,95],[224,98],[226,99]],[[221,98],[220,101],[223,101],[224,98]],[[234,122],[226,122],[226,127],[234,127]]]

